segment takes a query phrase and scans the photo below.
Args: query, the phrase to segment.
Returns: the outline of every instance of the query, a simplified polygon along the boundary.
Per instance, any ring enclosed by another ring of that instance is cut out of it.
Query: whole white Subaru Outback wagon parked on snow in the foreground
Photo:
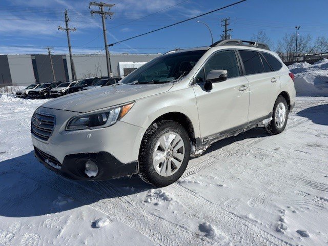
[[[230,39],[168,52],[118,84],[50,100],[35,110],[35,156],[72,179],[139,174],[156,187],[190,156],[255,127],[281,133],[294,75],[264,44]]]

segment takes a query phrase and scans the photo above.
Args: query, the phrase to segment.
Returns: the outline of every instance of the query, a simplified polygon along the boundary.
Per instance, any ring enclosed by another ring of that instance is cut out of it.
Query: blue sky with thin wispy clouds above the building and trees
[[[68,53],[67,38],[58,25],[64,26],[64,11],[68,9],[73,53],[104,53],[101,18],[90,15],[85,0],[2,0],[0,3],[0,54],[45,53],[45,46],[53,46],[53,53]],[[237,2],[233,0],[117,0],[107,19],[109,43],[173,24]],[[172,7],[176,5],[175,7]],[[92,9],[96,10],[95,7]],[[166,10],[163,10],[166,9]],[[253,33],[264,31],[274,44],[284,33],[310,33],[315,39],[328,35],[327,0],[248,0],[231,8],[199,18],[206,22],[219,40],[222,18],[230,17],[232,37],[250,39]],[[163,11],[161,11],[163,10]],[[153,14],[155,12],[159,13]],[[152,15],[150,15],[152,14]],[[150,15],[148,17],[144,17]],[[144,18],[142,18],[144,17]],[[142,18],[142,19],[139,19]],[[126,24],[130,22],[129,24]],[[159,53],[174,48],[209,45],[206,26],[190,20],[165,30],[135,38],[110,48],[115,53]]]

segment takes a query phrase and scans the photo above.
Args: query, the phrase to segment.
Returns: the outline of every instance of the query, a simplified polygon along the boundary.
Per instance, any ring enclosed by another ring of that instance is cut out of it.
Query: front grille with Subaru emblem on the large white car
[[[44,141],[47,141],[55,127],[55,116],[34,112],[31,122],[32,134]]]

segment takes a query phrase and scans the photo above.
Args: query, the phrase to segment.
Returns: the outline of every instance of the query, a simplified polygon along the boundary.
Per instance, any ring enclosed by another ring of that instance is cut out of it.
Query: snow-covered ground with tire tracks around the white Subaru
[[[0,94],[0,245],[327,245],[328,97],[212,145],[173,185],[72,181],[33,156],[46,100]]]

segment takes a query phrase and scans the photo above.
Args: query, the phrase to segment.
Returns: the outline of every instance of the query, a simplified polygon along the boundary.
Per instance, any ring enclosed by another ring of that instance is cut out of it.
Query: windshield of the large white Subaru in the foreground
[[[168,83],[186,76],[206,50],[159,56],[121,80],[124,84]]]

